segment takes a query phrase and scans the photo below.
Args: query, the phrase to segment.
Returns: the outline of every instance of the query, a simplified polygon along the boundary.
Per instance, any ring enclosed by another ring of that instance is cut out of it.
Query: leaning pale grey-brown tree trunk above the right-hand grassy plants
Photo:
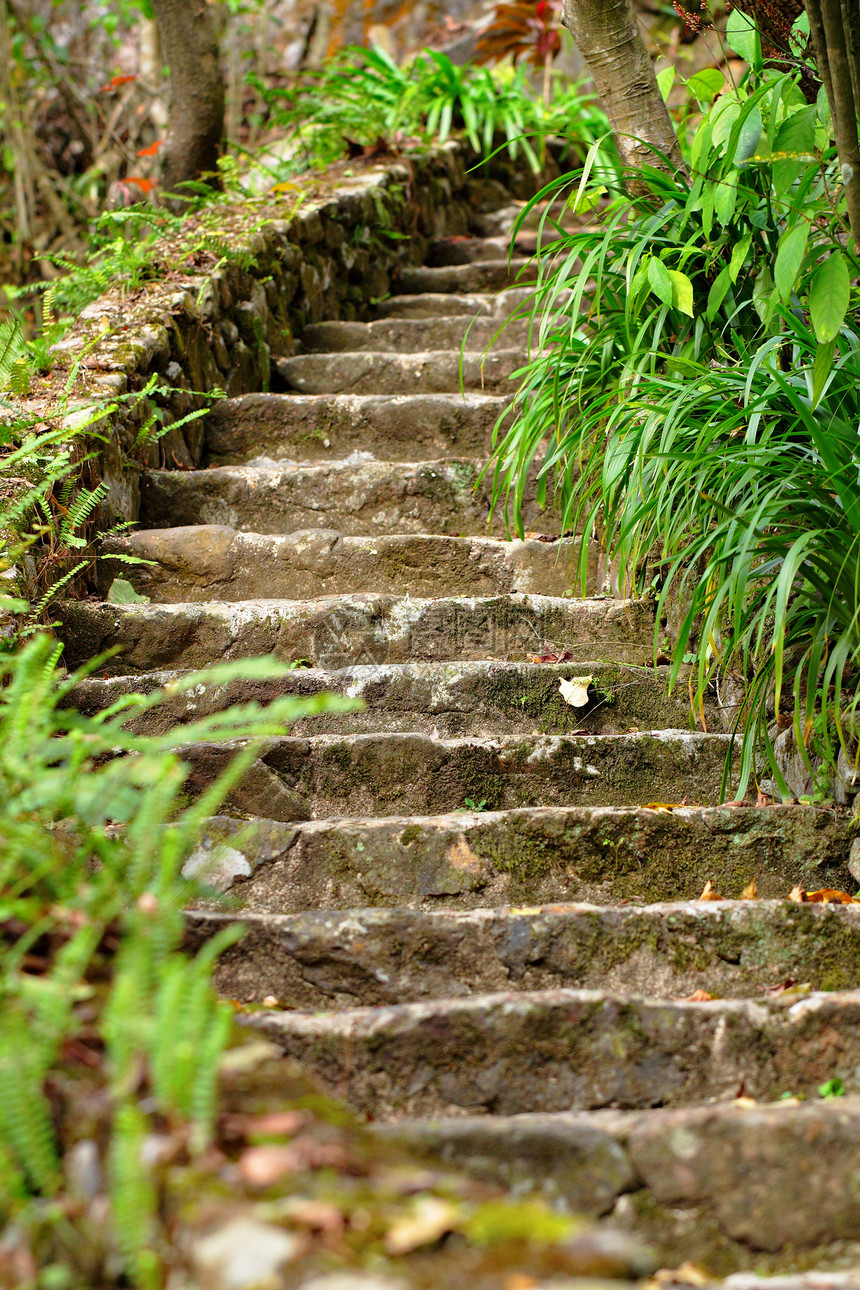
[[[588,63],[623,164],[686,172],[633,0],[565,0],[562,21]],[[638,187],[634,177],[629,187]]]

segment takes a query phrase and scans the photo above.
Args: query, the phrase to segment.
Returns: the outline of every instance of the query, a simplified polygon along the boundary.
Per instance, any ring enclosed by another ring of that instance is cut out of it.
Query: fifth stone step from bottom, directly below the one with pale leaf
[[[689,730],[625,735],[509,735],[435,739],[425,734],[286,735],[269,739],[260,762],[302,810],[280,819],[349,815],[431,815],[477,806],[620,806],[719,800],[730,737]],[[195,791],[211,783],[233,751],[195,743],[183,760]],[[268,780],[268,788],[277,784]],[[244,789],[228,799],[242,813],[271,808]]]

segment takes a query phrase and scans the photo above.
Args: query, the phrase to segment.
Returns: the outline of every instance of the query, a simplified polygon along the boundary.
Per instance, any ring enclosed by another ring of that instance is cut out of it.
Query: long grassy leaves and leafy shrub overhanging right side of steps
[[[754,71],[689,138],[682,123],[689,178],[646,168],[630,195],[596,146],[535,199],[601,204],[601,222],[542,257],[540,347],[494,461],[518,531],[538,459],[562,528],[598,531],[629,593],[656,565],[658,624],[683,605],[673,676],[695,657],[698,702],[726,672],[747,682],[741,791],[763,764],[787,791],[785,689],[803,748],[815,729],[860,734],[860,266],[824,95],[796,81]]]

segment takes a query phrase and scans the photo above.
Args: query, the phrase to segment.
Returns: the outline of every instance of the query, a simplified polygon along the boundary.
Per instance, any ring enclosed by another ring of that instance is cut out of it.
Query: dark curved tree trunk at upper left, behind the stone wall
[[[217,164],[224,130],[224,77],[206,0],[152,0],[161,48],[170,67],[170,132],[161,183],[206,178],[218,186]]]

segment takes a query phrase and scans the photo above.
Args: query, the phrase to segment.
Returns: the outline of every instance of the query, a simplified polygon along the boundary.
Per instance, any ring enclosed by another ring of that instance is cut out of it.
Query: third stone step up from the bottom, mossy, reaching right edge
[[[231,915],[191,913],[196,939]],[[761,998],[788,979],[860,982],[860,906],[725,900],[603,908],[242,915],[248,935],[218,961],[218,989],[244,1002],[325,1009],[499,989],[610,989]]]

